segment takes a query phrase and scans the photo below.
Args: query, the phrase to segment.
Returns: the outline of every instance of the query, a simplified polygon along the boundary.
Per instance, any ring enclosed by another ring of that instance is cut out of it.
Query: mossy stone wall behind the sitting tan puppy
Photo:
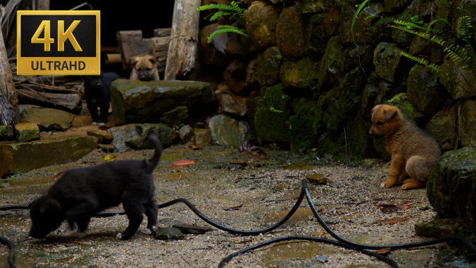
[[[209,33],[232,22],[202,20],[200,65],[192,77],[227,95],[219,97],[225,101],[217,113],[230,111],[225,107],[238,100],[246,102],[241,113],[226,115],[248,120],[255,139],[338,158],[388,158],[383,141],[368,136],[370,111],[387,103],[436,136],[444,150],[476,145],[476,91],[454,82],[476,88],[474,74],[450,61],[440,45],[388,27],[396,19],[411,22],[418,16],[423,25],[447,18],[457,29],[462,15],[476,26],[475,1],[457,1],[453,7],[441,1],[372,2],[360,11],[354,38],[351,22],[361,1],[248,2],[248,38],[225,33],[208,44]],[[400,52],[424,57],[443,72],[434,74]]]

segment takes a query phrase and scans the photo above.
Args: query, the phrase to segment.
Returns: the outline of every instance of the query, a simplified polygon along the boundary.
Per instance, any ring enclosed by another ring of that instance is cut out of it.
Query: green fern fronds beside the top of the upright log
[[[243,1],[246,4],[246,1]],[[231,19],[235,19],[241,26],[246,26],[246,21],[244,19],[244,10],[245,8],[240,8],[235,1],[232,1],[230,5],[216,4],[211,3],[209,5],[200,6],[197,10],[209,10],[209,9],[219,9],[212,14],[205,16],[205,19],[209,19],[211,22],[215,19],[219,19],[222,16],[230,16]],[[238,29],[235,26],[231,25],[221,25],[219,30],[214,31],[209,37],[208,42],[212,42],[213,38],[218,36],[221,33],[238,33],[241,36],[248,36],[246,29]]]

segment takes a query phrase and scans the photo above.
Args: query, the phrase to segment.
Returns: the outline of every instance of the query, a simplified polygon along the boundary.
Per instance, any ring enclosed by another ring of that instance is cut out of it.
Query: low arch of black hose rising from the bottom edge
[[[241,254],[241,253],[245,253],[246,251],[253,251],[255,249],[259,249],[261,248],[262,246],[267,246],[269,244],[273,244],[273,243],[277,243],[277,242],[282,242],[282,241],[288,241],[288,240],[307,240],[307,241],[312,241],[312,242],[321,242],[321,243],[325,243],[325,244],[331,244],[331,245],[334,245],[334,246],[341,246],[343,248],[346,248],[346,249],[353,249],[354,251],[359,251],[361,253],[364,253],[366,255],[370,255],[372,257],[375,257],[375,258],[378,258],[379,260],[383,260],[384,262],[387,262],[389,265],[392,265],[392,267],[395,267],[395,268],[398,268],[398,265],[397,265],[397,262],[395,262],[395,260],[392,260],[390,258],[387,258],[383,255],[380,255],[380,254],[377,254],[377,253],[374,253],[372,251],[366,251],[365,249],[359,249],[355,246],[351,246],[351,245],[348,245],[348,244],[344,244],[344,243],[341,243],[341,242],[338,242],[338,241],[334,241],[334,240],[329,240],[329,239],[326,239],[326,238],[319,238],[319,237],[303,237],[303,236],[291,236],[291,237],[280,237],[280,238],[276,238],[276,239],[272,239],[272,240],[269,240],[267,242],[263,242],[261,244],[257,244],[255,246],[250,246],[246,249],[242,249],[241,251],[237,251],[235,253],[232,253],[228,256],[226,256],[223,260],[221,260],[221,262],[219,263],[219,266],[218,268],[223,268],[223,265],[225,265],[227,262],[229,262],[230,260],[232,260],[232,258],[235,258],[237,255]]]

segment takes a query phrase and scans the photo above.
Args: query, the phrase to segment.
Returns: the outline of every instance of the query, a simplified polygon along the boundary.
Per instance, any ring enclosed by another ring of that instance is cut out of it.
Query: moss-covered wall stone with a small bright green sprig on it
[[[254,112],[254,128],[264,142],[286,141],[286,121],[289,118],[289,100],[283,97],[283,86],[265,86]]]

